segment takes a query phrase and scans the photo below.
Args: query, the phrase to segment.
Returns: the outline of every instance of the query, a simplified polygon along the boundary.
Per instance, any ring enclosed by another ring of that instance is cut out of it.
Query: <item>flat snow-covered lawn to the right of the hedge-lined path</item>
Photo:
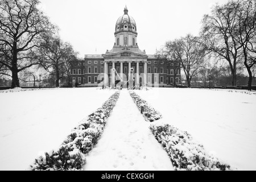
[[[246,90],[153,88],[136,93],[217,158],[256,170],[256,95]]]

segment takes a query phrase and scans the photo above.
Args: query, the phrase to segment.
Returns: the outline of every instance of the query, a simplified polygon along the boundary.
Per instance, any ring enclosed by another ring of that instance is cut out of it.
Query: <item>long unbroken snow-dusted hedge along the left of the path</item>
[[[45,153],[31,165],[33,171],[82,170],[87,154],[97,143],[103,132],[106,119],[113,110],[120,92],[115,92],[100,109],[90,114],[75,127],[64,140],[58,151]]]

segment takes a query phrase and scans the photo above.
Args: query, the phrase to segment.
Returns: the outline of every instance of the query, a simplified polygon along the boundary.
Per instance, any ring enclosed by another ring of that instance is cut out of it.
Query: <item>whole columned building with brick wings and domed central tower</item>
[[[174,78],[173,63],[163,57],[146,55],[137,43],[137,25],[128,15],[127,7],[115,24],[115,43],[102,55],[85,55],[72,61],[73,82],[81,86],[110,86],[118,80],[128,81],[130,74],[136,85],[164,86],[180,84],[180,66]],[[113,69],[114,68],[114,69]],[[133,68],[133,69],[132,69]],[[131,72],[131,70],[133,72]]]

